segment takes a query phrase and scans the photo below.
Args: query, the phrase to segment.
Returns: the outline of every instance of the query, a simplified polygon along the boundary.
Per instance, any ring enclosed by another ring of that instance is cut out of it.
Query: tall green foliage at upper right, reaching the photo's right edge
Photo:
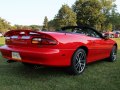
[[[115,0],[77,0],[73,10],[78,25],[89,25],[101,31],[111,31],[120,25]]]

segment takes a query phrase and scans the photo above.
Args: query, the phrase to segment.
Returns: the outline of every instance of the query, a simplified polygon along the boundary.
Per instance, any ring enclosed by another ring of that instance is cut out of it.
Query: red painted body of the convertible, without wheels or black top
[[[78,48],[87,52],[87,63],[101,60],[109,57],[112,47],[117,46],[111,39],[81,33],[13,30],[5,37],[6,45],[0,47],[4,58],[48,66],[70,66]]]

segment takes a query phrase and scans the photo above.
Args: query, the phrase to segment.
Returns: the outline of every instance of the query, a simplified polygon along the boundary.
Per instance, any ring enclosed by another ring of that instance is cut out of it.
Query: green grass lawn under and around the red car
[[[118,60],[87,65],[85,72],[72,76],[61,68],[27,68],[7,63],[0,57],[0,90],[120,90],[120,39]],[[0,45],[4,44],[0,38]]]

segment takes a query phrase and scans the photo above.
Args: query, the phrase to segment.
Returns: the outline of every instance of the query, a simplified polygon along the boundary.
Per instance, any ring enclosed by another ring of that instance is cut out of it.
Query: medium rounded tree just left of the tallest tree
[[[68,5],[62,5],[53,20],[58,28],[76,25],[76,14]]]

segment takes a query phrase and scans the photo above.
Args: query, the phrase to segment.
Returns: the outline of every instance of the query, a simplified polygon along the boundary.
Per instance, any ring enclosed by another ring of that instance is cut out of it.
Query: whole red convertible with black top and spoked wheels
[[[8,61],[25,65],[69,67],[81,74],[87,63],[117,56],[117,43],[86,26],[63,27],[59,32],[13,30],[5,34],[0,52]]]

